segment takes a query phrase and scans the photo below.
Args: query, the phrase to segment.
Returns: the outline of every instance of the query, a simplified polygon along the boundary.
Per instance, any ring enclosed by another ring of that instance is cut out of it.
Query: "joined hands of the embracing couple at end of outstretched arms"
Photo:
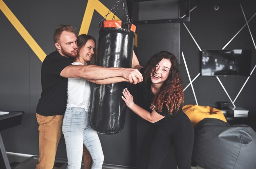
[[[122,77],[129,80],[130,83],[136,85],[143,81],[143,76],[138,69],[126,68],[122,73]]]

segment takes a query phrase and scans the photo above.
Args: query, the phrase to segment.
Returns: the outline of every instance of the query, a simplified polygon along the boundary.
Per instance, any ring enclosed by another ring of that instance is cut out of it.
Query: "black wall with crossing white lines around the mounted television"
[[[200,49],[222,49],[224,47],[225,49],[252,49],[251,71],[253,70],[256,65],[256,47],[254,44],[256,10],[253,7],[256,6],[256,2],[254,0],[241,0],[239,2],[236,0],[191,0],[191,9],[195,7],[190,13],[191,22],[180,26],[180,52],[184,53],[191,80],[200,73]],[[218,10],[214,9],[216,5],[219,7]],[[249,19],[251,20],[249,21]],[[246,25],[247,21],[249,21],[251,33]],[[189,78],[182,57],[180,64],[184,87],[186,87],[189,84]],[[232,101],[238,96],[234,105],[249,110],[249,116],[255,116],[255,71],[247,83],[245,83],[247,77],[219,78]],[[243,85],[245,86],[238,95]],[[216,77],[199,76],[193,82],[193,87],[198,105],[217,106],[217,101],[231,102]],[[191,86],[185,90],[185,104],[196,104]]]

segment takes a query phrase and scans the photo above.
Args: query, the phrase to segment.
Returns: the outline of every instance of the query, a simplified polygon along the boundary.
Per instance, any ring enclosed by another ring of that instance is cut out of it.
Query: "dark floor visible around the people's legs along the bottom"
[[[38,156],[14,155],[7,153],[11,169],[35,169]],[[66,169],[67,160],[56,159],[53,169]],[[81,166],[83,169],[83,165]],[[117,165],[104,164],[102,169],[135,169],[134,167],[125,167]],[[203,169],[202,167],[191,167],[191,169]]]

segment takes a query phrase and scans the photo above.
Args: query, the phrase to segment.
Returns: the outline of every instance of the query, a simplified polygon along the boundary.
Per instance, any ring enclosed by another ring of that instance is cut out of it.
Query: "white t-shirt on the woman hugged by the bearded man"
[[[83,65],[74,62],[73,65]],[[90,82],[82,78],[68,78],[67,82],[67,107],[80,107],[89,110],[90,106]]]

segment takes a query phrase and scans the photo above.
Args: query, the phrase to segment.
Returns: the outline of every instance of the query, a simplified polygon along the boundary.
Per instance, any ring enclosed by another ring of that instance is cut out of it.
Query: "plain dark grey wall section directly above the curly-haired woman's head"
[[[179,23],[137,25],[137,34],[137,55],[142,66],[145,66],[150,57],[159,51],[170,51],[179,60]]]

